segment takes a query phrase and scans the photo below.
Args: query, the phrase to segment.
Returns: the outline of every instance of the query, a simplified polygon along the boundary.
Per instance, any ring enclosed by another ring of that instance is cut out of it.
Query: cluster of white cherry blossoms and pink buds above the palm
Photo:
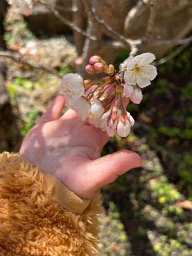
[[[107,66],[99,56],[90,58],[86,71],[90,74],[104,72],[108,76],[99,80],[83,80],[78,74],[66,74],[61,81],[64,99],[70,108],[95,127],[106,131],[110,137],[116,133],[121,137],[130,134],[134,119],[125,110],[123,97],[138,104],[142,100],[140,88],[148,86],[157,75],[150,63],[152,53],[144,53],[131,59],[124,76],[117,74],[113,65]]]

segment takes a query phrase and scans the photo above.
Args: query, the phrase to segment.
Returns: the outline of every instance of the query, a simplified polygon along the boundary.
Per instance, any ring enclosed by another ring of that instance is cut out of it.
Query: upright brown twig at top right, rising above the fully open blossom
[[[153,42],[153,32],[154,32],[154,24],[155,24],[155,10],[156,4],[158,0],[151,0],[150,3],[150,18],[148,19],[148,25],[146,29],[146,36],[144,39],[144,44],[151,45]]]

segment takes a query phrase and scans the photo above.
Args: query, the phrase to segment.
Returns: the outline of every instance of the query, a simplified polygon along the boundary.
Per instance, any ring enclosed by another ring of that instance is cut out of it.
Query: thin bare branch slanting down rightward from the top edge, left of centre
[[[75,25],[73,22],[71,22],[71,20],[69,20],[68,18],[63,17],[62,15],[59,14],[58,10],[56,10],[54,7],[46,4],[44,2],[44,0],[38,0],[42,5],[44,5],[45,7],[47,7],[53,14],[55,17],[57,17],[58,19],[60,19],[60,21],[67,25],[71,30],[80,33],[81,35],[83,35],[84,37],[87,37],[91,40],[97,40],[97,37],[95,35],[89,35],[87,34],[84,30],[80,29],[77,25]]]

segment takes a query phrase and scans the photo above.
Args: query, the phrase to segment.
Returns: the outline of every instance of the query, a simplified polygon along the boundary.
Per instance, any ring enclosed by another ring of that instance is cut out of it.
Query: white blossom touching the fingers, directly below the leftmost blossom
[[[69,99],[68,104],[72,110],[76,111],[77,115],[82,117],[82,121],[88,117],[91,106],[86,98],[80,97],[75,100]]]

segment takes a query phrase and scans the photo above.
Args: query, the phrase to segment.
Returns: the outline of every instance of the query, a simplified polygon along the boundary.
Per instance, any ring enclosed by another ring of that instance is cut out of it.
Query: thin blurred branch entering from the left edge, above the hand
[[[23,56],[20,55],[18,52],[0,51],[0,56],[11,58],[11,59],[15,60],[16,62],[26,64],[31,68],[42,69],[42,70],[44,70],[48,73],[51,73],[51,74],[54,74],[54,75],[58,76],[59,78],[62,78],[62,76],[58,75],[58,72],[55,71],[55,70],[50,70],[46,67],[42,67],[42,66],[38,65],[38,63],[37,63],[37,65],[33,65],[33,64],[29,63],[28,61],[23,59],[22,58]]]

